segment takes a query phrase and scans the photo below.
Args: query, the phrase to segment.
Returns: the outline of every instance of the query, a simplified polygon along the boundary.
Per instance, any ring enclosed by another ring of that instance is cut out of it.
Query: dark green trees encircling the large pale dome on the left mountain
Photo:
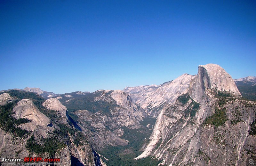
[[[54,110],[46,109],[42,105],[45,99],[35,93],[19,90],[10,90],[7,93],[9,93],[12,97],[16,97],[17,100],[9,102],[4,106],[0,106],[0,125],[5,132],[9,132],[14,136],[19,136],[21,138],[25,135],[28,135],[29,133],[28,131],[17,127],[19,124],[30,122],[29,119],[15,119],[12,117],[12,114],[14,113],[13,108],[21,99],[27,98],[33,101],[36,107],[46,116],[48,116],[52,121],[60,118]],[[37,154],[48,153],[50,157],[54,157],[58,149],[63,148],[65,144],[71,144],[70,136],[72,137],[72,140],[74,140],[73,143],[75,144],[75,146],[88,143],[84,134],[72,128],[68,124],[59,124],[59,127],[60,130],[56,128],[52,134],[48,135],[48,138],[46,139],[41,138],[39,140],[35,140],[34,135],[32,135],[26,142],[26,148],[28,149],[28,151]]]

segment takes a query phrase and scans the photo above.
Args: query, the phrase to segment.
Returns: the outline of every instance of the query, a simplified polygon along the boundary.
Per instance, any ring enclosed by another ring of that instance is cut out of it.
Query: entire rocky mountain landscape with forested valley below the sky
[[[3,90],[0,154],[62,166],[246,165],[256,157],[255,86],[206,64],[124,90]]]

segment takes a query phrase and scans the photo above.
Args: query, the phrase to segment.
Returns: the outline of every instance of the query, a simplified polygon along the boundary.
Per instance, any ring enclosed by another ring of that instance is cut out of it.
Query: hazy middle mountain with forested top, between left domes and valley
[[[127,140],[122,138],[124,129],[148,130],[140,124],[147,114],[121,90],[97,90],[84,95],[73,92],[57,98],[98,149],[127,145]]]

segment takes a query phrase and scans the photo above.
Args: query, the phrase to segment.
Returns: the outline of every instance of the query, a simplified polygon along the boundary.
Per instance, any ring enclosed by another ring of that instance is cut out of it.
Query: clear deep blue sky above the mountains
[[[255,76],[252,1],[0,1],[0,89],[161,84],[198,65]]]

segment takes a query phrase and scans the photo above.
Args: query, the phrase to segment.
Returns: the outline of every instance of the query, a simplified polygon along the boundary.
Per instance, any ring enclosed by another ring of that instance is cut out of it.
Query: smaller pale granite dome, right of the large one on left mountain
[[[43,103],[43,106],[50,110],[55,110],[57,115],[60,117],[60,123],[68,123],[67,108],[62,105],[57,98],[49,98]]]

